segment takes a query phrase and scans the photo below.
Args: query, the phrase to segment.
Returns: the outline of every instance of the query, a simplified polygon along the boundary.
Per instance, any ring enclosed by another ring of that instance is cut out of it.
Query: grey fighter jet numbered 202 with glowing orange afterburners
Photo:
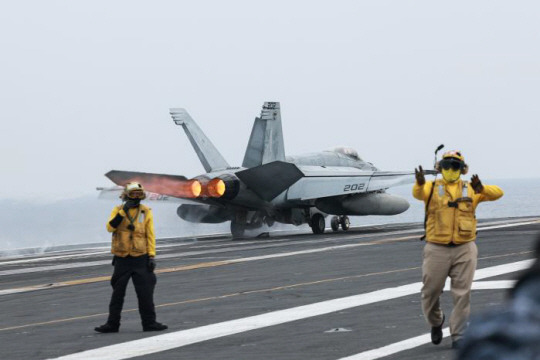
[[[407,200],[386,193],[392,186],[412,183],[412,172],[379,171],[350,148],[285,156],[279,102],[266,102],[255,118],[241,167],[232,167],[185,109],[170,109],[182,126],[205,174],[150,174],[112,170],[116,185],[136,181],[161,198],[179,200],[178,216],[195,223],[231,222],[233,238],[246,229],[275,222],[308,223],[315,234],[331,228],[348,230],[348,215],[396,215]],[[107,190],[104,190],[107,191]]]

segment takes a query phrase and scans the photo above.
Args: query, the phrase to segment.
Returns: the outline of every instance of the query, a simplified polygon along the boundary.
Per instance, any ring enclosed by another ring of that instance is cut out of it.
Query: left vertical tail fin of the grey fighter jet
[[[174,123],[176,125],[182,125],[184,128],[206,172],[229,167],[227,161],[221,156],[214,144],[206,137],[185,109],[176,108],[169,110]]]

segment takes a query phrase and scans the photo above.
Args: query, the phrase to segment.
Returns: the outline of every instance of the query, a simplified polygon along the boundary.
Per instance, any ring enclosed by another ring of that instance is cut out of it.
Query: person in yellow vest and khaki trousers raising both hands
[[[422,264],[422,310],[431,325],[431,342],[441,343],[445,315],[439,296],[450,277],[454,309],[450,316],[452,348],[467,326],[470,314],[471,285],[476,270],[478,249],[475,209],[482,201],[503,196],[494,185],[483,185],[478,175],[470,182],[461,180],[468,172],[465,158],[459,151],[446,152],[436,165],[442,180],[426,182],[420,166],[415,169],[413,196],[426,206],[426,245]]]

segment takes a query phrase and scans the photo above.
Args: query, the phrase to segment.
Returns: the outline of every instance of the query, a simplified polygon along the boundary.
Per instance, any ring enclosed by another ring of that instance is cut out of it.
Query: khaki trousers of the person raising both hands
[[[476,270],[478,248],[474,241],[448,247],[427,242],[422,264],[422,310],[431,326],[441,325],[443,312],[439,296],[450,277],[454,309],[450,316],[452,340],[461,338],[471,312],[471,285]]]

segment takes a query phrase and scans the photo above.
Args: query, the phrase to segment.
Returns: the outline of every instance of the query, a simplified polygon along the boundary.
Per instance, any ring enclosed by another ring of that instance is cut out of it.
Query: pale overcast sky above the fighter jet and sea
[[[204,172],[170,107],[240,165],[264,101],[289,155],[540,177],[537,1],[4,1],[0,48],[4,198]]]

